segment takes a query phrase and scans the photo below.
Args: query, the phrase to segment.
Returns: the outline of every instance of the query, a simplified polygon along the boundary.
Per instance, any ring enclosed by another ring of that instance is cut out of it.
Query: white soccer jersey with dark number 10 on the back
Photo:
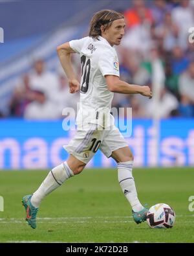
[[[104,76],[120,76],[116,50],[102,36],[98,40],[87,36],[69,44],[81,58],[80,110],[76,122],[78,126],[82,122],[109,126],[114,93],[108,90]]]

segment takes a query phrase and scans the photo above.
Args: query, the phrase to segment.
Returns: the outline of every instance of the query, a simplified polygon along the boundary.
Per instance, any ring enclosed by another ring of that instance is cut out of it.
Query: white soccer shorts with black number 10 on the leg
[[[88,163],[98,148],[106,157],[110,157],[114,150],[128,146],[116,126],[110,129],[99,130],[96,124],[89,124],[87,130],[77,130],[69,145],[63,148],[83,163]]]

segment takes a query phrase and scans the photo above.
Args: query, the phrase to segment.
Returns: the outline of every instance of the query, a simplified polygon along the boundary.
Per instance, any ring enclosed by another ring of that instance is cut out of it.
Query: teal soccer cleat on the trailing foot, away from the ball
[[[34,207],[31,202],[30,198],[32,197],[32,194],[28,194],[27,196],[24,196],[22,198],[22,204],[25,207],[26,211],[26,220],[28,222],[28,225],[32,228],[36,228],[36,215],[38,213],[38,208]]]

